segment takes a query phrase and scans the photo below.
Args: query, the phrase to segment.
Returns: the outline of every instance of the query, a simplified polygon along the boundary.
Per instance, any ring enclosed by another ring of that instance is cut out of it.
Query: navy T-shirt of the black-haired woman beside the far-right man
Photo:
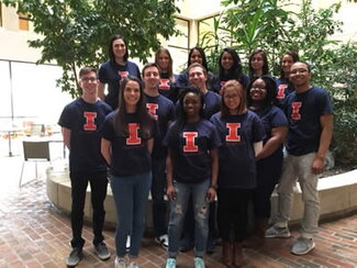
[[[288,126],[287,116],[283,112],[272,105],[265,110],[252,110],[259,118],[264,126],[265,138],[264,144],[271,137],[271,130],[279,126]],[[257,185],[270,186],[276,185],[281,174],[282,167],[282,145],[271,155],[257,161]]]

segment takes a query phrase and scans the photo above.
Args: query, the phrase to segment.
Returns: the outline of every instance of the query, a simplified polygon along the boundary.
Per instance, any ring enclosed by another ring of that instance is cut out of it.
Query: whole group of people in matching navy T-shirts
[[[83,257],[88,183],[94,250],[102,260],[111,257],[102,235],[108,169],[118,214],[116,268],[138,267],[149,192],[155,241],[167,248],[167,268],[176,267],[188,242],[194,267],[204,267],[204,254],[213,250],[217,236],[215,222],[226,267],[244,264],[244,246],[289,237],[297,180],[304,214],[291,253],[314,248],[317,175],[332,139],[333,108],[328,93],[310,83],[308,63],[287,52],[276,79],[258,49],[249,57],[247,76],[238,54],[224,48],[220,72],[213,75],[203,49],[194,47],[187,70],[177,76],[169,51],[161,47],[155,63],[140,72],[120,35],[110,41],[109,57],[98,72],[89,67],[79,71],[82,96],[65,107],[58,122],[70,150],[72,250],[67,266]],[[277,185],[278,215],[268,228]],[[247,235],[249,202],[254,230]]]

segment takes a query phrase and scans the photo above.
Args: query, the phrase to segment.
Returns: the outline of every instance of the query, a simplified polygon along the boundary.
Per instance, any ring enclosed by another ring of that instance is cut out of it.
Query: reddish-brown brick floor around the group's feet
[[[22,157],[8,157],[7,146],[0,142],[0,268],[4,267],[65,267],[70,250],[70,226],[67,215],[53,208],[46,198],[45,168],[40,165],[40,179],[26,165],[24,185],[18,187]],[[14,144],[14,153],[21,146]],[[54,165],[60,165],[60,160]],[[246,249],[245,267],[357,267],[357,215],[322,224],[315,238],[316,248],[305,256],[293,256],[289,248],[298,235],[288,239],[268,239],[258,250]],[[91,247],[91,227],[86,226],[85,260],[78,267],[113,267],[113,257],[100,261]],[[113,231],[104,232],[107,244],[114,253]],[[221,247],[208,256],[207,267],[220,264]],[[152,238],[143,239],[141,267],[165,267],[166,252]],[[192,253],[180,254],[178,267],[193,267]]]

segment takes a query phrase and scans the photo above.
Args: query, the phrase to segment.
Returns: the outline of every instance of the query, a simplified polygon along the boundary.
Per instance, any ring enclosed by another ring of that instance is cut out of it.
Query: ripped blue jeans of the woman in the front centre
[[[194,256],[203,257],[209,234],[209,203],[207,191],[210,187],[210,179],[200,183],[180,183],[174,181],[176,200],[170,203],[170,221],[168,224],[168,255],[176,257],[179,252],[180,237],[188,209],[189,197],[192,194],[194,215]]]

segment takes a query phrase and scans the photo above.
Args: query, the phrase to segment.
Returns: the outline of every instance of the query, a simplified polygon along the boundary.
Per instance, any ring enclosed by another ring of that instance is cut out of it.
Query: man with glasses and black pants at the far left
[[[71,185],[70,223],[72,250],[66,259],[67,266],[77,266],[83,257],[85,239],[81,237],[83,227],[83,208],[87,186],[91,188],[93,209],[93,245],[98,257],[110,258],[110,253],[102,235],[104,224],[104,199],[107,197],[107,164],[100,152],[100,130],[105,115],[112,109],[98,99],[97,70],[85,67],[79,71],[81,98],[67,104],[60,114],[58,124],[62,126],[64,144],[69,149],[69,178]]]

